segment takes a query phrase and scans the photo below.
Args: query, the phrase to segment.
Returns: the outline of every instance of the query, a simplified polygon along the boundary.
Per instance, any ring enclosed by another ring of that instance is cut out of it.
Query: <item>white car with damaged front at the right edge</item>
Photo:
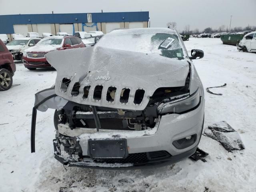
[[[236,47],[239,51],[256,52],[256,31],[246,34]]]

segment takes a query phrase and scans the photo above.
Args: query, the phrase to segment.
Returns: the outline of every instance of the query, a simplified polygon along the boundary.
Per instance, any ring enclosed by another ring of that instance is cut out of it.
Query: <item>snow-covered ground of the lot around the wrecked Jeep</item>
[[[218,38],[190,38],[187,50],[204,50],[194,60],[205,91],[205,124],[225,120],[240,133],[245,150],[227,152],[202,136],[199,147],[207,162],[183,160],[149,170],[91,170],[66,167],[53,156],[54,110],[38,112],[36,153],[30,153],[30,123],[34,94],[54,84],[56,71],[29,71],[16,64],[14,85],[0,92],[0,191],[186,191],[254,192],[256,190],[256,54],[238,52]],[[7,123],[7,124],[5,124]]]

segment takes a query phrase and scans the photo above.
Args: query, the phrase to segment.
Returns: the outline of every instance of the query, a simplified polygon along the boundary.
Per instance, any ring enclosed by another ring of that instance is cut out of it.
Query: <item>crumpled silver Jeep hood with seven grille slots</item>
[[[58,96],[80,104],[127,110],[144,110],[157,88],[184,86],[189,72],[186,60],[103,47],[53,51],[46,54],[46,59],[57,70],[55,93]],[[60,89],[63,78],[71,80],[65,92]],[[76,82],[80,84],[79,94],[72,96]],[[97,85],[103,86],[101,100],[93,99]],[[91,86],[87,99],[83,99],[85,86]],[[106,100],[110,86],[117,88],[114,102]],[[120,102],[123,88],[130,89],[126,104]],[[133,102],[138,89],[145,90],[139,105]]]

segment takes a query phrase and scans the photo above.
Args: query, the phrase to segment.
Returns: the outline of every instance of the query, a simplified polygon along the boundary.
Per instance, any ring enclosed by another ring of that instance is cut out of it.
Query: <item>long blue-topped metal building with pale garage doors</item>
[[[0,34],[148,27],[149,12],[0,15]]]

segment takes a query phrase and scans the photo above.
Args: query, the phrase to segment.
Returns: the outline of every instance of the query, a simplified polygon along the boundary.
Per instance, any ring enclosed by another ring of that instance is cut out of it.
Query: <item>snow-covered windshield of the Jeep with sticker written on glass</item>
[[[113,49],[159,54],[168,58],[184,59],[182,46],[176,34],[115,34],[106,35],[96,44]]]

